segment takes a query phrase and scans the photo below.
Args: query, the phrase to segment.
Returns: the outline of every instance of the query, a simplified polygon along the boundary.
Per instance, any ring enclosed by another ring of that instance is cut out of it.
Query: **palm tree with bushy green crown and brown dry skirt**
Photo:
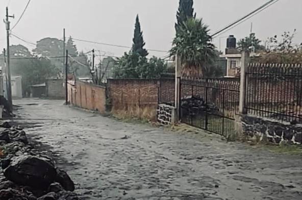
[[[203,77],[216,58],[209,28],[202,19],[185,21],[172,42],[171,55],[180,56],[182,76]]]

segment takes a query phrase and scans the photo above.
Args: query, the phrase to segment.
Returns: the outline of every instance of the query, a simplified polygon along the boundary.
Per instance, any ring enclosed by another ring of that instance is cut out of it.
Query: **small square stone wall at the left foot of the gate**
[[[159,104],[157,108],[157,122],[162,125],[172,125],[175,123],[175,107]]]

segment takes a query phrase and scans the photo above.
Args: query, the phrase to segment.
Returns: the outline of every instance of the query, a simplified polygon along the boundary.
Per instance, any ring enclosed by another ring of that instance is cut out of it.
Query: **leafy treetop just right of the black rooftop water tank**
[[[248,37],[245,37],[238,42],[238,49],[240,51],[246,50],[251,52],[253,51],[253,49],[251,49],[252,46],[255,48],[255,52],[264,50],[264,46],[261,45],[261,40],[256,38],[255,33],[251,33]]]

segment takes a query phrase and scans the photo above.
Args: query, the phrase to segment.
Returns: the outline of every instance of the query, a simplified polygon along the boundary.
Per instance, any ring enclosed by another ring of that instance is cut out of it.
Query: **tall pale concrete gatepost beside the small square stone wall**
[[[175,63],[175,108],[176,108],[176,121],[180,120],[180,78],[181,78],[181,59],[180,56],[176,55]]]

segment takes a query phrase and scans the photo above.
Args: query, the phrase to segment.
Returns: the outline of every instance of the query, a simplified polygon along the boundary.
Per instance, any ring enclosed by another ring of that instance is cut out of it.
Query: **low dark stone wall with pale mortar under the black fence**
[[[253,116],[240,116],[237,131],[249,138],[258,138],[273,144],[302,144],[302,125]],[[238,126],[239,124],[239,126]]]

